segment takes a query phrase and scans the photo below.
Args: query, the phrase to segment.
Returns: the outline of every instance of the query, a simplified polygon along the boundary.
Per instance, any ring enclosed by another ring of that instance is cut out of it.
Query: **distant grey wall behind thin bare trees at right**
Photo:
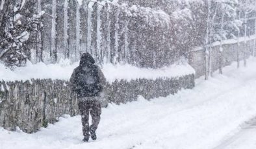
[[[249,58],[252,54],[253,43],[254,38],[246,39],[246,44],[244,40],[240,40],[239,45],[234,41],[231,43],[224,43],[222,45],[222,54],[220,54],[220,44],[213,45],[211,52],[211,72],[218,70],[220,65],[225,67],[231,65],[232,62],[237,62],[238,58],[240,65],[244,65],[242,60],[244,60],[244,58]],[[196,78],[205,75],[205,58],[205,48],[197,48],[190,52],[189,64],[195,69]],[[209,56],[207,56],[207,58],[209,60]],[[209,65],[210,63],[208,63],[208,67]]]

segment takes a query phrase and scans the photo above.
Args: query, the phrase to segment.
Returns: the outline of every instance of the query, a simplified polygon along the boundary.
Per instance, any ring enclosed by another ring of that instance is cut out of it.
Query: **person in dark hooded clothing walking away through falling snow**
[[[88,52],[81,56],[80,64],[74,69],[70,82],[72,91],[77,95],[81,112],[83,141],[88,142],[90,137],[96,140],[96,130],[101,119],[100,100],[106,79],[101,69],[95,64],[94,58]],[[91,126],[89,126],[89,113],[92,116]]]

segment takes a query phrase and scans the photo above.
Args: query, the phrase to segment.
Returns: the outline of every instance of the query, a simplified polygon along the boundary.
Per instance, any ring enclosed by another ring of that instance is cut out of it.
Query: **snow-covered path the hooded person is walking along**
[[[226,67],[224,75],[199,78],[194,89],[176,95],[110,104],[103,109],[97,141],[83,143],[81,117],[65,115],[34,134],[0,128],[0,148],[215,148],[256,116],[255,68],[251,59],[246,68]]]

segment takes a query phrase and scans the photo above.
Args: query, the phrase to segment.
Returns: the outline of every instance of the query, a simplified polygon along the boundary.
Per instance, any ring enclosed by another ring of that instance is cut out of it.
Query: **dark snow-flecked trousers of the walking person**
[[[83,135],[88,136],[89,132],[96,132],[99,120],[101,119],[101,104],[97,100],[79,101],[81,112]],[[89,113],[92,116],[92,125],[89,126]]]

